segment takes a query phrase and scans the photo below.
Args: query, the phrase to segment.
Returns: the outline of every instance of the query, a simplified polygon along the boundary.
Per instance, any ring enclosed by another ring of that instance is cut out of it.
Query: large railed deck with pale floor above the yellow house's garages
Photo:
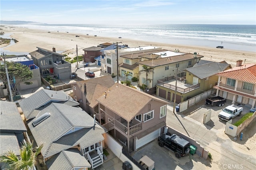
[[[176,76],[166,77],[164,79],[160,79],[157,81],[157,84],[168,89],[175,90],[176,88]],[[180,93],[188,93],[194,89],[198,89],[200,87],[200,83],[196,85],[187,84],[186,79],[182,77],[177,77],[177,91]]]

